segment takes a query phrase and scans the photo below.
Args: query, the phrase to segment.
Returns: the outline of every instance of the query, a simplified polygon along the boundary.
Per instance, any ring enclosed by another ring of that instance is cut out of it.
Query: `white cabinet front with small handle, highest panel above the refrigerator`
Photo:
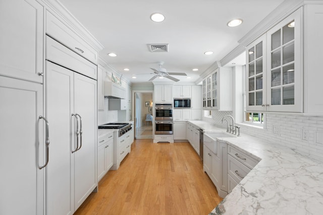
[[[98,52],[48,11],[46,11],[46,34],[97,65]]]

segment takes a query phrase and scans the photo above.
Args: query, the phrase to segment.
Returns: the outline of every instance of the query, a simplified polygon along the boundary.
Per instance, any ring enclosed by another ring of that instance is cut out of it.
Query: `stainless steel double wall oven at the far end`
[[[155,134],[173,134],[173,104],[155,104]]]

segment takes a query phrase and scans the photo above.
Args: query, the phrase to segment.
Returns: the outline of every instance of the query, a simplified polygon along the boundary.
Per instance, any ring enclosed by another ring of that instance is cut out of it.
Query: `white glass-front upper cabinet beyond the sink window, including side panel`
[[[218,67],[203,80],[203,109],[232,110],[232,70]]]

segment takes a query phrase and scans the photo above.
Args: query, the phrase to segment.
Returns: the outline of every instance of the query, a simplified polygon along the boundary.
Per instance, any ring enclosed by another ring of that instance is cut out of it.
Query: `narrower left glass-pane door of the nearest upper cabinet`
[[[266,35],[263,35],[246,49],[246,109],[266,109]]]

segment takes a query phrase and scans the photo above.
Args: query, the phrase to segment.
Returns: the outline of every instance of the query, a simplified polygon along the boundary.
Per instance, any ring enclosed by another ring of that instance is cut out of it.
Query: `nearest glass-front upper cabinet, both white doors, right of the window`
[[[301,11],[247,47],[247,111],[303,111]]]

